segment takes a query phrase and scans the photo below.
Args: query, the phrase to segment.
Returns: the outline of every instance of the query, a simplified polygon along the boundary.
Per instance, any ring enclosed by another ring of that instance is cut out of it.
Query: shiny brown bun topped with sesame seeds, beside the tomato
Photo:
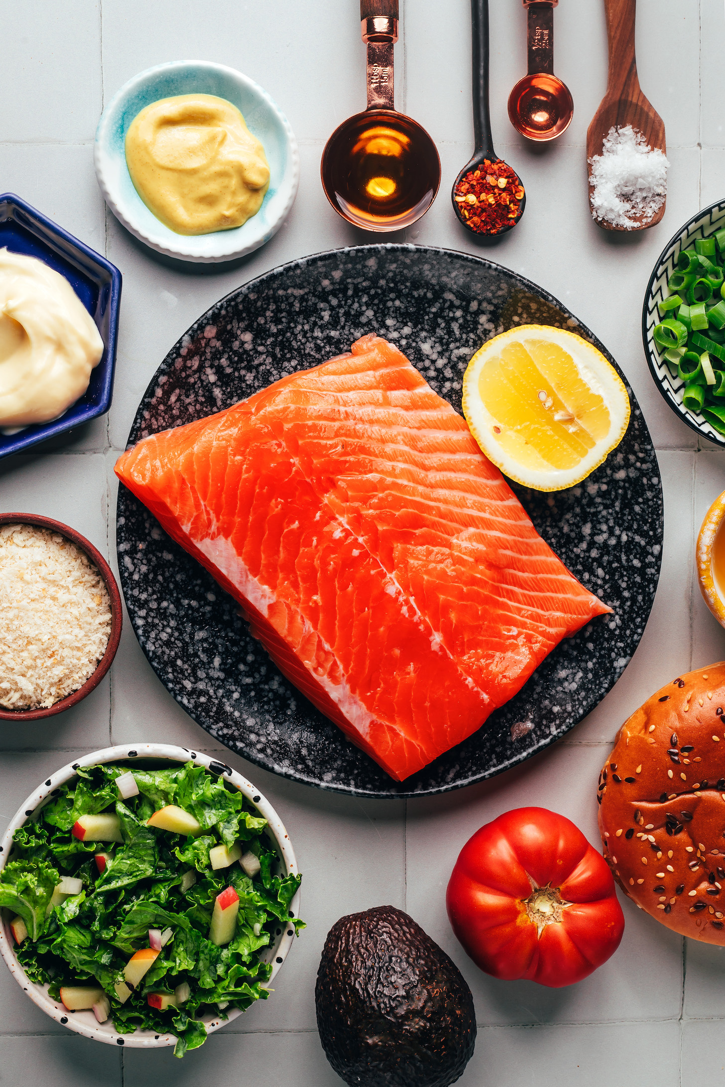
[[[725,946],[725,662],[688,672],[620,729],[599,775],[614,878],[667,928]]]

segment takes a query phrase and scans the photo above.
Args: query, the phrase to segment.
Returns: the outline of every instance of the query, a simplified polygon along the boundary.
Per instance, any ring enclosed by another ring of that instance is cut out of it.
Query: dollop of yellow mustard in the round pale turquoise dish
[[[176,234],[241,226],[270,187],[264,148],[236,105],[214,95],[147,105],[126,134],[126,164],[143,203]]]

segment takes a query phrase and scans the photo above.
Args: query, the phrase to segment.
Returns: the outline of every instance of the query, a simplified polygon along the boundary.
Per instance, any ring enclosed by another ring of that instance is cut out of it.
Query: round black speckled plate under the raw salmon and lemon
[[[575,328],[607,354],[561,302],[488,261],[393,245],[320,253],[246,284],[200,317],[157,371],[128,441],[228,408],[284,374],[349,350],[370,332],[397,343],[460,411],[472,354],[517,323]],[[265,770],[323,789],[422,796],[528,759],[614,686],[654,599],[662,488],[649,432],[628,391],[625,438],[582,486],[553,495],[515,487],[539,533],[613,614],[562,641],[483,728],[402,784],[285,679],[249,635],[236,602],[121,487],[121,579],[152,669],[217,740]]]

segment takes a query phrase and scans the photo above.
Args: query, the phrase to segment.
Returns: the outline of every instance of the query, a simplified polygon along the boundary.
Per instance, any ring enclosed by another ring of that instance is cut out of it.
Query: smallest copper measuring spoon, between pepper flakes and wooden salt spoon
[[[523,0],[527,9],[528,75],[509,95],[509,117],[527,139],[550,140],[568,128],[574,102],[554,75],[554,8],[559,0]]]

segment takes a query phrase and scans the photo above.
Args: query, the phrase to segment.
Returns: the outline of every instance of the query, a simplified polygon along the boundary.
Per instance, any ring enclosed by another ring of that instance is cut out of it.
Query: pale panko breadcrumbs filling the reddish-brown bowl
[[[64,536],[0,527],[0,705],[46,708],[82,687],[111,634],[98,570]]]

